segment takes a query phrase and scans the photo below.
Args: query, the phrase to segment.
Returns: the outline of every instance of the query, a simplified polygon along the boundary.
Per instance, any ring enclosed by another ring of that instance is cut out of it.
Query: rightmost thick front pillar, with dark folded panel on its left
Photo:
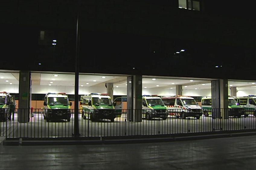
[[[228,80],[212,80],[212,117],[229,118]]]

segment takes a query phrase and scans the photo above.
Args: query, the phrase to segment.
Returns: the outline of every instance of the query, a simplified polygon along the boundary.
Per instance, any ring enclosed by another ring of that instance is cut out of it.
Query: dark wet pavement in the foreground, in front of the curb
[[[1,144],[0,155],[0,169],[5,170],[255,169],[256,135],[145,144]]]

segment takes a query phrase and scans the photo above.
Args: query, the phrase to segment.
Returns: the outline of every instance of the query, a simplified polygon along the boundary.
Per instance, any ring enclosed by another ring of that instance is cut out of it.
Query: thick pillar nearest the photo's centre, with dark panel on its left
[[[127,109],[130,121],[142,121],[142,75],[127,77]]]

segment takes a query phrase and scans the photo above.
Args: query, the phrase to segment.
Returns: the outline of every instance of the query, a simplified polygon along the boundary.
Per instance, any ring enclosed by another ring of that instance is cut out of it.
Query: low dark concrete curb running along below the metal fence
[[[136,144],[136,143],[154,143],[154,142],[175,142],[189,140],[203,140],[213,138],[229,138],[256,135],[256,132],[238,132],[238,133],[218,133],[218,134],[179,134],[176,136],[124,136],[124,137],[95,137],[95,138],[53,138],[53,139],[5,139],[3,145],[6,146],[32,146],[32,145],[102,145],[102,144]]]

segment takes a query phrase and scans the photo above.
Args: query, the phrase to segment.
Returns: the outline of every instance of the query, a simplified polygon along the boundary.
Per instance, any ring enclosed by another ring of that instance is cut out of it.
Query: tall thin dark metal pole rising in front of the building
[[[79,45],[80,45],[80,5],[81,0],[78,0],[78,12],[76,20],[76,53],[75,53],[75,115],[74,115],[74,137],[79,137]]]

